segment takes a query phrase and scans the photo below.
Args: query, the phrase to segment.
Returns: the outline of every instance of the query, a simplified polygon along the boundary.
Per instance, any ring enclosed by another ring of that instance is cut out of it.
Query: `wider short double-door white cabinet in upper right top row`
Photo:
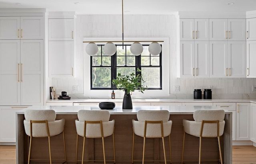
[[[245,19],[210,19],[210,41],[245,41]]]

